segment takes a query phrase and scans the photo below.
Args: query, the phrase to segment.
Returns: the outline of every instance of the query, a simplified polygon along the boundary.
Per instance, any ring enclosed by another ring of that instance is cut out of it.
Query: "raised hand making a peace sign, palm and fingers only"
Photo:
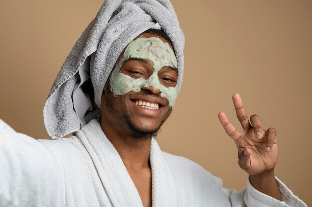
[[[249,175],[261,175],[274,171],[278,160],[277,134],[274,128],[264,130],[260,117],[252,115],[250,122],[239,94],[233,95],[237,118],[243,131],[239,132],[224,112],[218,114],[219,120],[238,149],[238,164]]]

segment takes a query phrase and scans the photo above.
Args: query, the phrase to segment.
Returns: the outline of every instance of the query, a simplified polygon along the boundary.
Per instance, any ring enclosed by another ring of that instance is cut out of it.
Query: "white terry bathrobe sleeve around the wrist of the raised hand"
[[[282,200],[279,201],[255,189],[249,179],[247,180],[247,189],[237,192],[222,188],[229,196],[232,207],[307,207],[307,205],[295,196],[287,186],[282,183],[277,177],[276,181],[279,185]],[[217,182],[221,182],[220,178],[215,178]]]

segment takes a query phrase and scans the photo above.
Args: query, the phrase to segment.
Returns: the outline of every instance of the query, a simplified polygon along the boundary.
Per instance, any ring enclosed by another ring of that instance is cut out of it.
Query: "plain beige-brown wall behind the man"
[[[16,131],[47,138],[42,109],[56,74],[102,1],[0,3],[0,118]],[[172,0],[186,37],[185,76],[162,150],[185,156],[246,186],[236,147],[218,122],[239,127],[231,96],[279,136],[276,175],[312,205],[312,1]]]

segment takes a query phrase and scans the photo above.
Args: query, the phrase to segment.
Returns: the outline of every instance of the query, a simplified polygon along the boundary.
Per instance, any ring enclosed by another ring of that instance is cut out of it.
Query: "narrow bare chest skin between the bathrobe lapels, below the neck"
[[[144,207],[152,207],[152,171],[150,167],[133,169],[127,167],[127,171],[133,180]]]

